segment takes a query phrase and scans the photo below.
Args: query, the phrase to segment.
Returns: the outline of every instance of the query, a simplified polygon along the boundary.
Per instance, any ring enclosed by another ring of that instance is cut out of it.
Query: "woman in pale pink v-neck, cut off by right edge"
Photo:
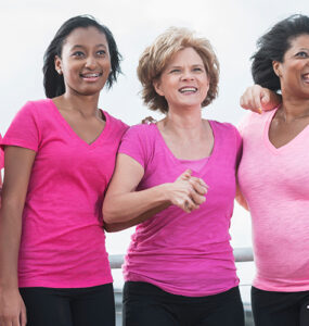
[[[260,115],[248,114],[240,128],[241,202],[252,214],[257,267],[253,312],[257,326],[307,326],[309,17],[293,15],[279,22],[257,45],[252,66],[260,85],[255,88],[257,102],[269,88],[281,91],[282,104]],[[252,106],[244,103],[247,96],[252,97],[245,95],[243,105]]]

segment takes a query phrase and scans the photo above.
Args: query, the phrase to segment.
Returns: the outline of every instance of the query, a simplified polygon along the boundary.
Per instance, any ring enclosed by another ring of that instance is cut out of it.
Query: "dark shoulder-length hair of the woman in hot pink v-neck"
[[[95,27],[99,32],[103,33],[108,43],[108,50],[111,55],[112,71],[108,75],[106,85],[112,87],[113,83],[117,80],[117,76],[121,73],[120,60],[121,55],[118,52],[118,48],[112,32],[104,25],[99,24],[94,17],[90,15],[79,15],[66,21],[55,34],[53,40],[49,45],[43,60],[43,85],[46,96],[48,98],[54,98],[65,92],[65,85],[63,75],[59,75],[55,71],[54,59],[61,58],[62,47],[67,36],[76,28],[79,27]]]

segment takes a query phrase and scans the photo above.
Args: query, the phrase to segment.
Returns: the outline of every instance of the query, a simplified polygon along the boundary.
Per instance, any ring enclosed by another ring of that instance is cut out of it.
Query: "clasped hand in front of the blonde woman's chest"
[[[181,174],[168,189],[169,201],[186,213],[197,210],[205,202],[208,186],[203,179],[192,177],[191,170]]]

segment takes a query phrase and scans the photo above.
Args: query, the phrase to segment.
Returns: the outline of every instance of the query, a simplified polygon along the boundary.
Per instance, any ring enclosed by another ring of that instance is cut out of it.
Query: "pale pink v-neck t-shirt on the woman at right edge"
[[[276,149],[269,127],[276,110],[241,125],[239,183],[253,220],[257,274],[268,291],[309,290],[309,126]]]

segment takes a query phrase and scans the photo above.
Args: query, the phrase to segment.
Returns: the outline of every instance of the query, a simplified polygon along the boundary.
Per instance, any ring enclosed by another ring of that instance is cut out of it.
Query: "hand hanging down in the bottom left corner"
[[[16,290],[0,290],[0,326],[25,326],[26,306]]]

